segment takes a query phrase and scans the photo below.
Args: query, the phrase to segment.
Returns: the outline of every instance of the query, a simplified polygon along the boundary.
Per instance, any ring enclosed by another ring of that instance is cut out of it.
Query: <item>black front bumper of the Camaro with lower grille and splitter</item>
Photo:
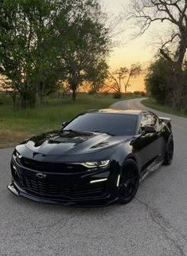
[[[7,186],[8,189],[14,195],[24,196],[38,203],[98,207],[107,206],[118,199],[118,176],[110,167],[79,174],[42,172],[46,175],[46,179],[42,180],[36,177],[41,171],[21,166],[13,156],[11,171],[12,183]],[[91,183],[95,179],[101,181]]]

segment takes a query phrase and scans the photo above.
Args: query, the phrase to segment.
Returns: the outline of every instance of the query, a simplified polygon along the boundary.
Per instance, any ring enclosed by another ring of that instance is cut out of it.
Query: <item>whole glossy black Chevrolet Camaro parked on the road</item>
[[[128,203],[150,171],[171,163],[170,121],[141,110],[84,112],[19,144],[8,188],[42,203]]]

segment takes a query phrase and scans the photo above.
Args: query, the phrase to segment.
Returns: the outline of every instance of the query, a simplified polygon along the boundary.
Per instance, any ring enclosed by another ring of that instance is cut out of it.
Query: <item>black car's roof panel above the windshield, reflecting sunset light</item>
[[[104,108],[104,109],[91,109],[86,112],[89,113],[108,113],[108,114],[128,114],[128,115],[140,115],[142,112],[147,112],[139,109],[115,109],[115,108]]]

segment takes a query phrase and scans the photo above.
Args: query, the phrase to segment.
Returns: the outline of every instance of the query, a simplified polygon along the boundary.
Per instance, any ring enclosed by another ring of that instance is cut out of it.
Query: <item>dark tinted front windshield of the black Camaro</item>
[[[77,116],[64,131],[104,132],[114,136],[134,135],[136,121],[136,115],[89,112]]]

